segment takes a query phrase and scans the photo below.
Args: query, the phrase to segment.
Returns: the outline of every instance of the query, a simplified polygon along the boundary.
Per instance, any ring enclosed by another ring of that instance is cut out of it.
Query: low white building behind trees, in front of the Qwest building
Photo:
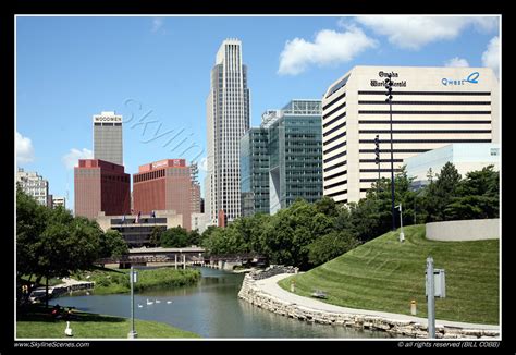
[[[415,179],[414,188],[427,185],[429,170],[432,169],[432,174],[435,176],[446,162],[452,162],[463,178],[470,171],[482,170],[488,166],[494,166],[494,170],[500,171],[500,144],[450,144],[404,160],[404,164],[407,166],[407,176]]]

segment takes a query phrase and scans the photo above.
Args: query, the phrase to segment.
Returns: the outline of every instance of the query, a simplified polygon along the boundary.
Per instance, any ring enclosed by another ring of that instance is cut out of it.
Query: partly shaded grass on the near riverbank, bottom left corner
[[[52,319],[50,309],[45,309],[41,305],[30,305],[24,313],[17,314],[17,338],[69,338],[64,334],[65,328],[65,320]],[[76,311],[70,320],[70,328],[73,331],[72,339],[127,339],[131,319]],[[200,338],[198,334],[165,323],[139,319],[135,319],[135,330],[139,339]]]

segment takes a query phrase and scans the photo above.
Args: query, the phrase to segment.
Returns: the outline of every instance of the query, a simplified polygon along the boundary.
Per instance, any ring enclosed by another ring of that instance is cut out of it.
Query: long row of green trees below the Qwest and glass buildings
[[[500,178],[492,166],[462,179],[453,163],[446,163],[439,174],[430,171],[428,178],[427,186],[413,191],[405,168],[396,174],[395,204],[403,206],[404,225],[499,217]],[[397,228],[397,209],[395,213]],[[298,199],[273,216],[257,213],[224,229],[210,227],[201,243],[211,254],[257,253],[272,264],[308,269],[391,229],[391,181],[381,179],[358,203]]]

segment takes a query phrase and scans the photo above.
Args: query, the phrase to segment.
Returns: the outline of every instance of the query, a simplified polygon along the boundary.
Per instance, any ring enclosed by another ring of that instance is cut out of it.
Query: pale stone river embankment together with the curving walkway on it
[[[290,294],[286,295],[286,291],[280,289],[278,285],[274,287],[270,287],[269,285],[268,292],[263,290],[263,280],[287,273],[297,273],[297,268],[272,266],[263,271],[258,270],[247,273],[244,278],[238,297],[259,308],[307,322],[385,331],[396,338],[428,338],[427,320],[425,318],[385,314],[373,310],[354,310],[351,308],[322,304],[319,301],[309,297],[300,297],[297,295],[290,296]],[[274,279],[274,283],[278,282],[278,280],[275,280],[278,278],[272,279]],[[272,289],[278,292],[270,292]],[[290,296],[291,299],[286,299],[288,298],[287,296]],[[438,320],[435,322],[435,336],[438,339],[491,340],[500,338],[499,327],[481,327],[480,325],[464,327],[464,325],[467,323]]]

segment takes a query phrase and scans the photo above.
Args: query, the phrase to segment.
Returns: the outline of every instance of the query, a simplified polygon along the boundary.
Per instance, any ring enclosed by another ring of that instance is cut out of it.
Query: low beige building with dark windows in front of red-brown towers
[[[156,210],[155,216],[148,213],[103,216],[100,213],[96,218],[97,223],[102,231],[109,229],[119,231],[130,247],[138,247],[149,245],[152,231],[158,228],[162,231],[183,227],[183,216],[175,213],[173,210]]]

